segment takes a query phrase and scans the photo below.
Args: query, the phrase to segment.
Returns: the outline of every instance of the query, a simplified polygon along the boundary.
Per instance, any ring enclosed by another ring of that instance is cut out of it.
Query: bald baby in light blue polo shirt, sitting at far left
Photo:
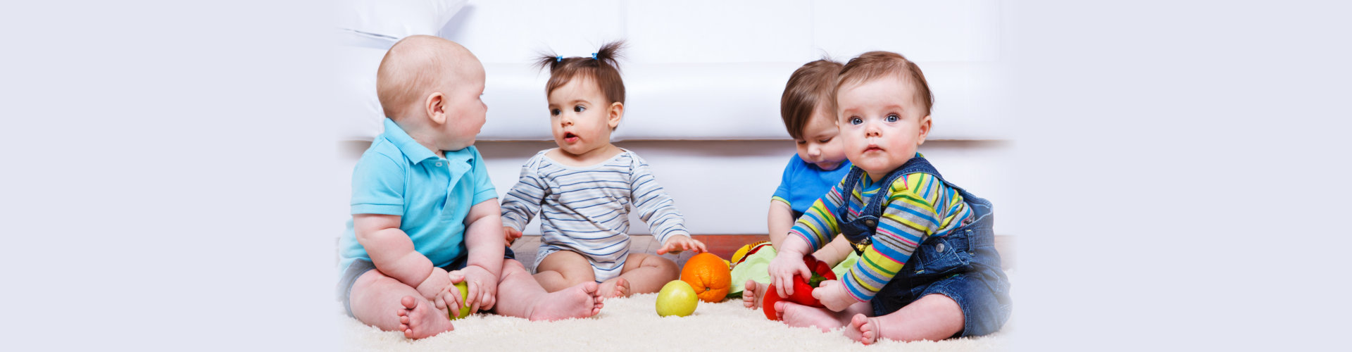
[[[473,146],[488,110],[475,54],[437,37],[404,38],[380,61],[376,92],[385,133],[353,171],[353,219],[338,244],[349,315],[423,338],[454,329],[450,317],[466,306],[533,321],[600,311],[596,283],[546,292],[506,246]]]

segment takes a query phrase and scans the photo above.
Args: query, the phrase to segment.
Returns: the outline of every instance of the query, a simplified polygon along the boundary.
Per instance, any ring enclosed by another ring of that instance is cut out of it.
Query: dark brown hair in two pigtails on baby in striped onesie
[[[592,57],[561,57],[542,54],[535,62],[541,69],[549,69],[549,83],[545,84],[545,96],[564,87],[568,81],[584,76],[596,81],[602,93],[610,103],[625,103],[625,80],[619,79],[619,49],[625,47],[623,41],[602,45]]]

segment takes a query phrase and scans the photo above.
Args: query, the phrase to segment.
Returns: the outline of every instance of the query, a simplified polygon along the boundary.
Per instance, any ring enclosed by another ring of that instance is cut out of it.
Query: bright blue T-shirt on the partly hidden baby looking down
[[[808,164],[803,158],[794,157],[788,160],[788,165],[784,167],[784,175],[779,180],[779,188],[775,190],[775,196],[771,199],[777,199],[780,202],[788,203],[788,207],[794,210],[794,218],[802,217],[807,213],[807,208],[813,207],[817,199],[831,191],[841,179],[849,175],[849,160],[841,161],[841,165],[836,167],[833,171],[823,171],[815,164]]]

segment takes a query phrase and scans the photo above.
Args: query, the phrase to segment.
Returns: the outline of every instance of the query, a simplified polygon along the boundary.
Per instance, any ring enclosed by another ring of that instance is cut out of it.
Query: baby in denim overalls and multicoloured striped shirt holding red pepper
[[[919,66],[900,54],[852,58],[836,84],[836,111],[850,172],[794,223],[771,261],[776,294],[807,278],[803,255],[844,234],[860,260],[813,290],[826,309],[788,301],[775,311],[792,326],[864,344],[983,336],[1009,320],[986,199],[944,180],[915,149],[930,130],[933,95]]]

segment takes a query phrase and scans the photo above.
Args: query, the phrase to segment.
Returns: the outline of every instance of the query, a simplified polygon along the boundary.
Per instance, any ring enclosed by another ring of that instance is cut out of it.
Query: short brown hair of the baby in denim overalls
[[[934,93],[930,92],[929,83],[925,81],[925,73],[921,72],[921,66],[898,53],[868,51],[850,58],[841,69],[836,89],[845,84],[864,83],[884,76],[899,77],[915,85],[917,100],[925,107],[925,115],[930,114],[930,108],[934,107]],[[831,108],[837,108],[836,99],[831,99]]]

